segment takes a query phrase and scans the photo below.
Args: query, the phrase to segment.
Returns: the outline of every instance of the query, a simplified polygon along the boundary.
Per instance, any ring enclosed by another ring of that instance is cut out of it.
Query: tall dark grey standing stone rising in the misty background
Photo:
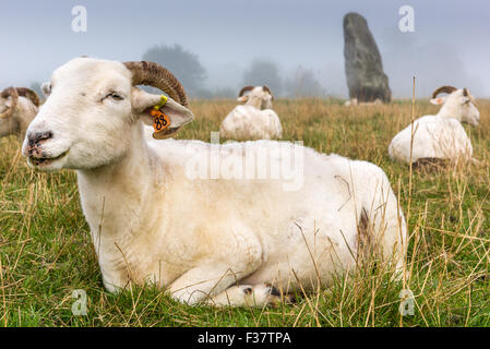
[[[392,99],[387,76],[383,72],[381,55],[368,28],[368,22],[358,13],[344,16],[344,57],[349,97],[358,101],[384,103]]]

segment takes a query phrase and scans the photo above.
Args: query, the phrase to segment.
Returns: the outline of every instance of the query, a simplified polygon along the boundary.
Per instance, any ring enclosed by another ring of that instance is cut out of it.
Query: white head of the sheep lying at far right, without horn
[[[432,98],[430,101],[442,105],[443,115],[476,127],[480,122],[480,112],[474,104],[474,97],[468,89],[466,91],[466,95],[464,89],[459,88],[447,96]]]

